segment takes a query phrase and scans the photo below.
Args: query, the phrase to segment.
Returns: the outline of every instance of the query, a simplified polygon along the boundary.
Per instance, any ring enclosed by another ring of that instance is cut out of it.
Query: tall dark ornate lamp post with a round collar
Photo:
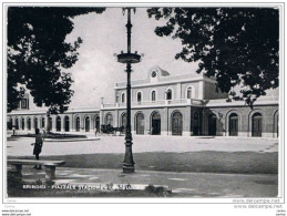
[[[131,8],[123,8],[123,14],[127,10],[127,52],[121,52],[117,54],[117,62],[126,64],[126,131],[125,131],[125,155],[123,162],[123,173],[134,173],[134,161],[132,153],[132,144],[133,137],[131,132],[131,72],[132,72],[132,63],[139,63],[141,61],[141,55],[135,53],[131,53],[131,33],[132,33],[132,23],[131,23]],[[135,8],[133,8],[135,13]]]

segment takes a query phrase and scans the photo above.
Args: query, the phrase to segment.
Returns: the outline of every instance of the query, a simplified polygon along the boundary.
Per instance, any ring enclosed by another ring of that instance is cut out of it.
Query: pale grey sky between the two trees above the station
[[[181,41],[154,33],[161,22],[148,19],[146,8],[137,8],[131,20],[132,52],[144,54],[142,62],[132,65],[132,80],[145,79],[154,65],[171,75],[196,75],[196,64],[174,58],[181,51]],[[73,19],[74,30],[66,41],[81,37],[83,43],[79,49],[79,61],[69,70],[74,80],[70,107],[100,106],[101,97],[104,97],[104,103],[114,102],[115,83],[126,81],[125,64],[119,63],[114,55],[121,50],[126,52],[126,13],[123,16],[121,8],[107,8],[102,14],[90,13]]]

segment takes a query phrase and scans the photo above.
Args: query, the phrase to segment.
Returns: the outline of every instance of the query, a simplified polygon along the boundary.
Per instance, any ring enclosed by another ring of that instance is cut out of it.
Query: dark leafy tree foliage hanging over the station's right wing
[[[278,86],[279,12],[276,8],[152,8],[148,17],[165,19],[160,37],[182,41],[175,55],[198,62],[197,73],[215,76],[229,100],[253,105]],[[236,85],[243,86],[235,92]]]

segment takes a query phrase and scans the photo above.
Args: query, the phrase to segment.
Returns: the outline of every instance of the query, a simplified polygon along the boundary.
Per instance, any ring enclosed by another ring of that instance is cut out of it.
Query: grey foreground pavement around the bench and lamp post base
[[[23,169],[24,185],[42,184],[44,171],[35,171],[25,167]],[[189,198],[239,198],[239,197],[277,197],[278,178],[276,175],[238,175],[238,174],[214,174],[214,173],[173,173],[135,171],[133,174],[123,174],[121,169],[94,169],[94,168],[69,168],[57,169],[55,188],[52,189],[57,196],[94,196],[101,197],[106,189],[93,191],[93,187],[106,187],[117,185],[130,186],[130,189],[146,192],[148,186],[164,188],[167,194],[155,193],[156,196],[189,197]],[[62,186],[90,187],[92,189],[80,189],[75,192],[65,191]],[[23,189],[29,192],[29,189]],[[40,192],[39,196],[43,196]],[[114,192],[114,191],[112,191]],[[35,195],[38,196],[38,195]],[[48,193],[44,196],[49,197]],[[50,195],[50,196],[53,196]],[[106,196],[106,195],[105,195]],[[107,195],[109,196],[109,195]],[[113,194],[111,194],[113,196]],[[129,197],[129,194],[125,194]],[[140,195],[141,196],[141,195]]]

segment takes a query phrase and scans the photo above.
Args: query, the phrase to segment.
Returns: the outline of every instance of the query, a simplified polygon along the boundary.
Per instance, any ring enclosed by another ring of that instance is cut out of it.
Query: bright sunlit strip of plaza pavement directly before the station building
[[[100,140],[81,142],[44,142],[41,155],[73,155],[124,153],[124,136],[102,135]],[[8,156],[31,156],[34,138],[19,138],[7,143]],[[133,152],[278,152],[277,138],[213,137],[213,136],[133,136]]]

